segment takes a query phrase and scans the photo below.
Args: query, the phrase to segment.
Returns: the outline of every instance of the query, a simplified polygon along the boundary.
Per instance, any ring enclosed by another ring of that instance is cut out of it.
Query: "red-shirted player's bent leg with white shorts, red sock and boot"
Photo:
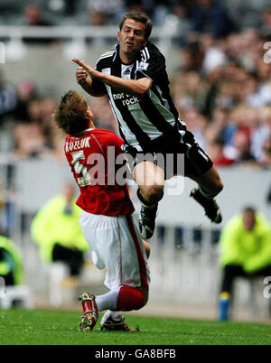
[[[105,284],[110,289],[108,293],[96,297],[90,293],[80,296],[83,307],[80,327],[82,330],[92,330],[99,312],[107,309],[117,312],[131,311],[144,306],[147,301],[146,289],[143,291],[142,287],[148,285],[148,271],[145,250],[141,240],[136,238],[135,226],[130,217],[93,216],[85,212],[82,214],[84,220],[80,219],[80,224],[84,237],[99,256],[98,261],[105,265]],[[145,279],[146,283],[141,285],[141,279]],[[134,282],[134,285],[126,285],[126,282]],[[125,328],[124,326],[123,330]]]

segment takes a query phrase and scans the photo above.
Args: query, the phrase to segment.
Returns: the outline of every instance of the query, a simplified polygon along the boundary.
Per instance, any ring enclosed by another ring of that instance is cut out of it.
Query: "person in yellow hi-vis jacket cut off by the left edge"
[[[23,258],[14,242],[4,236],[0,236],[0,276],[6,286],[23,284]]]

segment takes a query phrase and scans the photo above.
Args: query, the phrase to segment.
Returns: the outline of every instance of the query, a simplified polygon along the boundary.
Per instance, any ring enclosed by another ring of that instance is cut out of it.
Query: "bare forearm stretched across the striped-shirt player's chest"
[[[98,79],[103,83],[106,83],[110,87],[117,88],[119,90],[123,90],[129,93],[133,93],[138,97],[143,97],[145,92],[152,87],[153,81],[152,79],[148,79],[147,77],[143,79],[121,79],[119,77],[111,76],[108,74],[104,74],[95,70],[93,67],[87,65],[84,61],[79,61],[77,58],[73,58],[72,61],[77,63],[79,67],[83,68],[91,79]],[[82,75],[83,73],[80,73]]]

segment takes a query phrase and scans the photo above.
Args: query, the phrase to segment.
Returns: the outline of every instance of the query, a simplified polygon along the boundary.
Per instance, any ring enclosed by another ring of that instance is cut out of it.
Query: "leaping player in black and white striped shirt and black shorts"
[[[133,178],[142,203],[139,228],[144,238],[153,236],[164,181],[176,174],[196,181],[198,188],[192,190],[192,198],[205,209],[211,222],[222,220],[214,200],[223,189],[220,175],[178,116],[169,91],[164,55],[148,40],[152,26],[145,14],[125,14],[119,24],[118,44],[102,54],[96,68],[73,59],[79,65],[79,85],[94,97],[107,94],[124,139],[122,149],[135,158]],[[151,154],[152,160],[142,154]],[[157,154],[164,159],[172,154],[173,162],[159,163]],[[183,167],[179,154],[184,158]]]

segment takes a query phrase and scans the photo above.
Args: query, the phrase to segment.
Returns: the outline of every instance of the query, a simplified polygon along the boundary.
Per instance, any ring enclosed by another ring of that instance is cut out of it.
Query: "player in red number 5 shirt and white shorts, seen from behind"
[[[123,140],[111,131],[95,128],[90,107],[75,91],[62,97],[53,116],[68,134],[64,150],[80,189],[77,204],[83,209],[83,235],[94,264],[107,269],[105,284],[109,292],[80,296],[80,329],[92,330],[99,312],[108,310],[101,321],[102,328],[131,330],[122,312],[141,309],[148,300],[149,251],[145,251],[148,245],[142,241],[132,216],[134,207],[120,150]]]

